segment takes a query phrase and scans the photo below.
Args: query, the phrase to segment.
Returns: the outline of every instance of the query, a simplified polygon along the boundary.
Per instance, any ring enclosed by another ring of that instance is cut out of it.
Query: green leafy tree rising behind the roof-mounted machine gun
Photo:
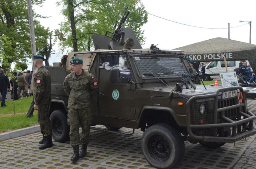
[[[143,44],[145,37],[141,26],[147,22],[147,11],[141,0],[60,0],[58,5],[63,6],[66,21],[61,22],[61,28],[55,31],[55,35],[60,41],[61,50],[91,50],[91,35],[114,31],[126,8],[124,4],[129,6],[131,13],[123,27],[132,28]]]

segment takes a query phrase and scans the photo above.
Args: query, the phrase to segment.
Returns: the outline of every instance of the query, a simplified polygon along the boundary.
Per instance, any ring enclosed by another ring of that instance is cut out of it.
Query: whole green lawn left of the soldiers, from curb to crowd
[[[37,110],[34,111],[32,118],[27,118],[27,112],[33,97],[22,97],[15,100],[15,113],[13,114],[13,101],[7,100],[7,107],[0,107],[0,133],[22,129],[37,125]]]

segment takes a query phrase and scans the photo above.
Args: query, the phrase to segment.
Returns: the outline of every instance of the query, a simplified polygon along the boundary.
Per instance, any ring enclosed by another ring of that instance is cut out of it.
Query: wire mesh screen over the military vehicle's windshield
[[[182,77],[187,73],[179,56],[133,53],[133,58],[142,79]]]

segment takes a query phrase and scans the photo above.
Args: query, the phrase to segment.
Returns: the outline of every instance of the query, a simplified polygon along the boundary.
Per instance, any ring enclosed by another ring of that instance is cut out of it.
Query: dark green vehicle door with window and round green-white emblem
[[[133,81],[130,66],[124,54],[101,54],[99,67],[99,115],[135,119]],[[119,69],[121,81],[111,83],[111,71]],[[123,79],[122,79],[123,78]],[[125,80],[126,79],[126,80]]]

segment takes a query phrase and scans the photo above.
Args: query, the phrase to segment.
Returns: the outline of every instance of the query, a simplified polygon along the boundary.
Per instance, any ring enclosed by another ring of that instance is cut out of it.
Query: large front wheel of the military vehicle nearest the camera
[[[141,140],[147,161],[156,168],[169,169],[181,162],[185,146],[180,133],[167,124],[148,127]]]

